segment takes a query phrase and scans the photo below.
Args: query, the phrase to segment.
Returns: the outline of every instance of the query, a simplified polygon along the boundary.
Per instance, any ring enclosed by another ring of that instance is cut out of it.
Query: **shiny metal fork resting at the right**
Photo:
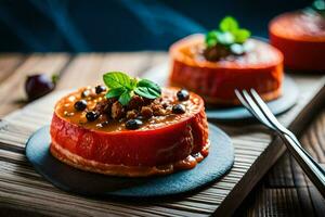
[[[302,148],[296,136],[285,128],[273,115],[260,95],[250,89],[250,92],[235,90],[242,104],[264,126],[275,131],[286,144],[289,152],[294,155],[303,171],[315,184],[325,197],[325,170],[322,166]]]

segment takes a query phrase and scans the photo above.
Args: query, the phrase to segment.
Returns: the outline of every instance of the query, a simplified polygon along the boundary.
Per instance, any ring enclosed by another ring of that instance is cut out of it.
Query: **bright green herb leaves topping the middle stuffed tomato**
[[[237,21],[232,16],[225,16],[219,24],[219,29],[209,31],[206,35],[207,48],[216,44],[232,46],[244,43],[250,37],[250,31],[239,28]]]

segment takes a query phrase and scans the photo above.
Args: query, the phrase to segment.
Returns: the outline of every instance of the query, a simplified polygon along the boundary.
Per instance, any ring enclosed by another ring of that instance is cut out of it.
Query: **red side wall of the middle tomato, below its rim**
[[[266,68],[209,68],[174,61],[170,84],[199,93],[210,104],[238,104],[235,89],[253,88],[265,100],[281,94],[282,65]],[[270,91],[273,92],[270,94]]]

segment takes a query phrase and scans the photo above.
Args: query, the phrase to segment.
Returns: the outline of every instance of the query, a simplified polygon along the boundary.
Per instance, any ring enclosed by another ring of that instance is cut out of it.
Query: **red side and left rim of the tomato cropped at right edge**
[[[269,25],[270,43],[283,52],[286,68],[292,71],[324,71],[325,37],[316,36],[313,38],[310,33],[306,33],[306,36],[302,35],[303,29],[296,33],[295,29],[290,28],[289,23],[291,23],[291,26],[299,25],[295,23],[295,18],[299,18],[301,15],[302,13],[299,12],[289,12],[273,18]],[[288,26],[286,28],[278,27],[281,25],[278,22]]]

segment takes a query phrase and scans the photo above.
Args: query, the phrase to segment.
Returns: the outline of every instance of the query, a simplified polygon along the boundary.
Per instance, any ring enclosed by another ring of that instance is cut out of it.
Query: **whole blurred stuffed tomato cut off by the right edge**
[[[317,13],[289,12],[273,18],[270,42],[294,71],[325,71],[325,18]]]

